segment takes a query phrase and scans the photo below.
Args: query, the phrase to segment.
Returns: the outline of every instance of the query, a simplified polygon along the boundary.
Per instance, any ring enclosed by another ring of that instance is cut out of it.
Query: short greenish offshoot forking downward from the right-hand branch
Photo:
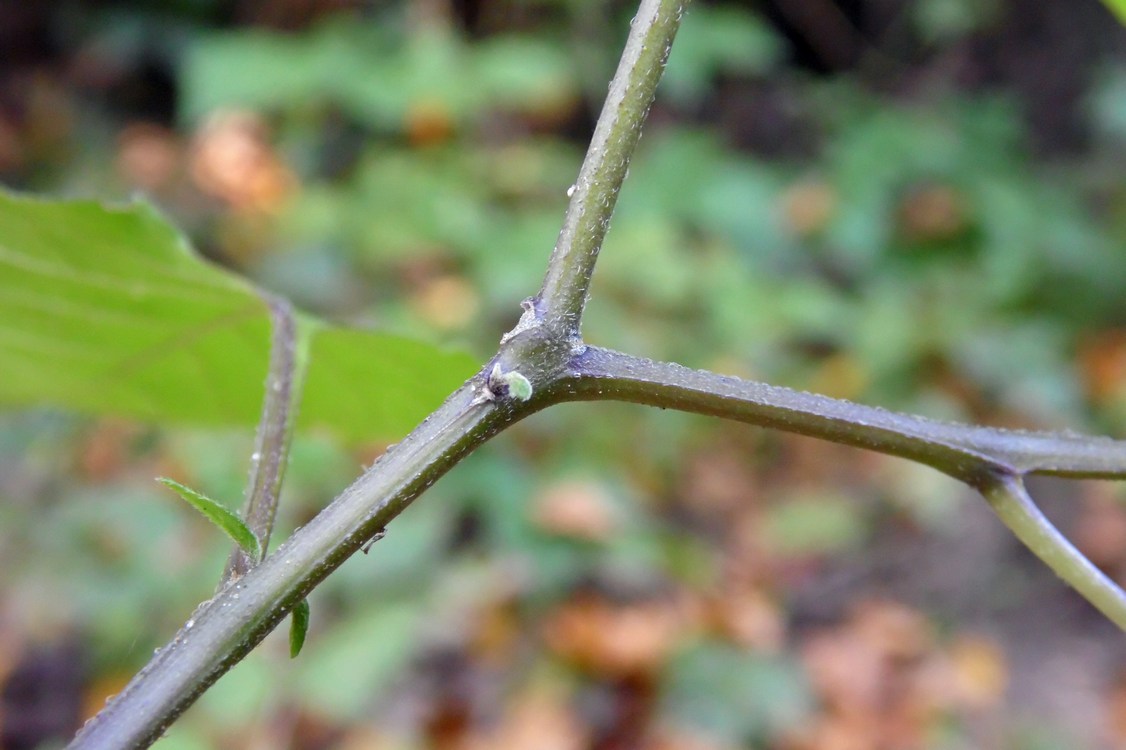
[[[1126,593],[1052,525],[1028,497],[1019,476],[988,475],[978,482],[977,489],[1026,547],[1126,631]]]

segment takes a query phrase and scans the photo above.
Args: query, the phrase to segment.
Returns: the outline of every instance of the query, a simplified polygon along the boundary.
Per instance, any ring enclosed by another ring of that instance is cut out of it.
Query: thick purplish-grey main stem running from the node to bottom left
[[[212,682],[239,662],[316,583],[499,430],[534,403],[475,403],[483,374],[425,422],[272,554],[227,583],[193,614],[171,643],[69,745],[148,747]]]

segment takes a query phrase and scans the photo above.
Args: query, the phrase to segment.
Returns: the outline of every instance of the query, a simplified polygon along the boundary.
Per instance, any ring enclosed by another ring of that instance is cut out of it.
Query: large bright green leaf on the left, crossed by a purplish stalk
[[[300,325],[312,340],[298,429],[346,440],[401,436],[475,366],[396,336]],[[262,295],[151,206],[0,190],[0,407],[250,427],[268,354]]]

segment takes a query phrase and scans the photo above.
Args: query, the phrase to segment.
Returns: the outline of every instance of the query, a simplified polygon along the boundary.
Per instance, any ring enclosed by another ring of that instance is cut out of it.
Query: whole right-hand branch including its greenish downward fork
[[[1126,631],[1126,592],[1060,534],[1020,480],[1024,473],[1126,476],[1126,441],[937,422],[596,347],[573,359],[556,389],[569,400],[713,414],[933,466],[978,490],[1025,546]]]

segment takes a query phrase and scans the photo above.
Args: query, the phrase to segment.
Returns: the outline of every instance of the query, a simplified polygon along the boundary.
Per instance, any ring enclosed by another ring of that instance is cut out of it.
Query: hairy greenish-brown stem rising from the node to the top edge
[[[538,305],[545,324],[578,338],[595,261],[687,0],[642,0],[571,194]]]

